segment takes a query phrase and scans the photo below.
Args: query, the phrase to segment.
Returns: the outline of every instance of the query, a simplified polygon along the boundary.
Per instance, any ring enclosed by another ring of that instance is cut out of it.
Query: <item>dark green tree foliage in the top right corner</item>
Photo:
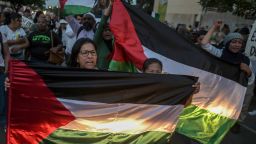
[[[200,0],[199,3],[205,10],[215,8],[218,12],[229,11],[248,19],[256,18],[255,0]]]

